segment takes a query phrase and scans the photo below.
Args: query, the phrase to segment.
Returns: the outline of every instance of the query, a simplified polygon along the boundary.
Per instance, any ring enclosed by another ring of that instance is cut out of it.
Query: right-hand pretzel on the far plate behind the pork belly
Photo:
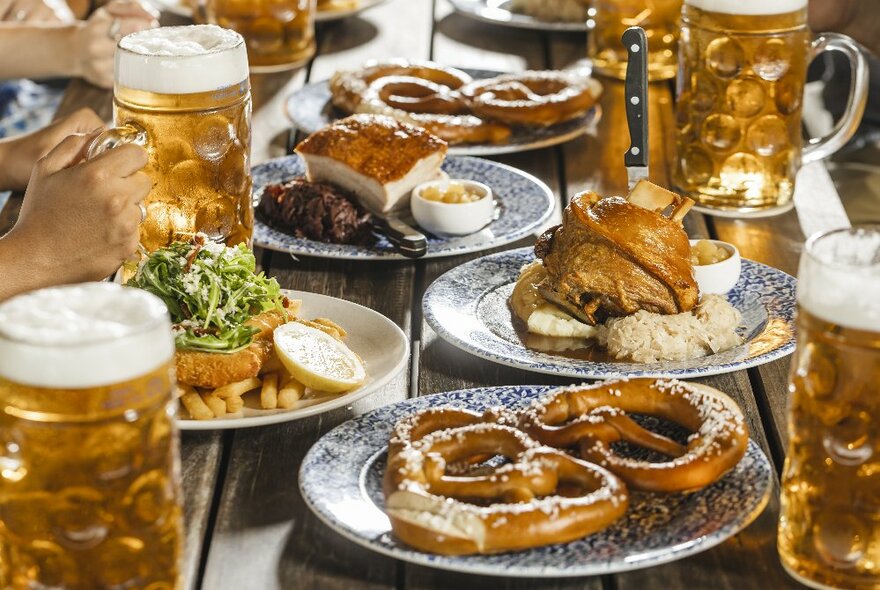
[[[514,125],[554,125],[586,113],[602,93],[592,78],[525,72],[477,80],[461,88],[479,117]]]

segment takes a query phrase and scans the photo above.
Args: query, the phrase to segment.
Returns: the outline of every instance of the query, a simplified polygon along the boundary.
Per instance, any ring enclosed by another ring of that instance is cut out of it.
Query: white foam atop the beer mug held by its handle
[[[119,48],[116,83],[133,90],[213,92],[248,77],[244,39],[216,25],[138,31],[123,37]]]

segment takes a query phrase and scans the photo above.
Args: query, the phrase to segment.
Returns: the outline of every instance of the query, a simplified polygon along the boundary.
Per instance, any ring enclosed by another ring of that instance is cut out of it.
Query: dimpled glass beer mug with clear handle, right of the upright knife
[[[847,114],[804,148],[807,66],[829,50],[852,65]],[[704,212],[782,213],[793,205],[800,166],[855,133],[867,91],[867,63],[854,41],[826,33],[811,42],[807,0],[685,0],[673,182]]]

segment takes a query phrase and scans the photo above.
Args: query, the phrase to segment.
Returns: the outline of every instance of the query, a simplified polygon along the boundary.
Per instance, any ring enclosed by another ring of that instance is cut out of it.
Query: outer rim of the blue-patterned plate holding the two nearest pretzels
[[[700,384],[694,384],[700,385]],[[702,387],[708,387],[703,386]],[[332,434],[337,433],[342,428],[346,427],[351,422],[365,419],[367,416],[372,415],[376,412],[380,411],[389,411],[392,407],[410,404],[416,400],[421,400],[424,398],[439,398],[441,396],[448,396],[453,394],[470,394],[476,395],[483,392],[489,392],[493,390],[510,390],[514,388],[527,388],[535,391],[540,391],[538,395],[544,394],[547,391],[552,391],[553,389],[557,389],[560,386],[558,385],[523,385],[523,384],[513,384],[513,385],[496,385],[496,386],[488,386],[488,387],[471,387],[466,389],[456,389],[451,391],[443,391],[432,393],[428,395],[421,395],[415,398],[407,398],[405,400],[401,400],[398,402],[393,402],[391,404],[387,404],[382,406],[381,408],[376,408],[362,414],[361,416],[356,416],[349,420],[346,420],[342,424],[339,424],[325,433],[321,438],[319,438],[308,450],[306,455],[303,457],[303,461],[300,464],[300,468],[297,470],[297,488],[299,489],[300,496],[303,498],[306,506],[309,507],[312,514],[314,514],[319,521],[321,521],[327,528],[329,528],[334,533],[342,536],[343,538],[356,543],[357,545],[364,547],[374,553],[379,553],[381,555],[385,555],[387,557],[404,561],[407,563],[413,563],[416,565],[430,567],[433,569],[439,569],[444,571],[453,571],[465,574],[477,574],[477,575],[486,575],[493,577],[509,577],[509,578],[534,578],[534,577],[555,577],[555,578],[584,578],[590,576],[599,576],[599,575],[608,575],[615,573],[624,573],[629,571],[636,571],[645,569],[648,567],[656,567],[663,564],[671,563],[674,561],[678,561],[680,559],[685,559],[687,557],[691,557],[693,555],[702,553],[704,551],[708,551],[713,547],[720,545],[721,543],[729,540],[730,538],[736,536],[743,530],[745,530],[748,526],[750,526],[754,521],[764,512],[767,508],[767,505],[770,502],[770,498],[773,492],[776,490],[778,484],[776,483],[775,472],[773,471],[772,463],[761,448],[761,445],[749,436],[749,448],[755,449],[760,457],[763,459],[765,465],[767,466],[767,487],[764,490],[763,496],[758,499],[757,503],[753,510],[751,510],[748,514],[743,515],[739,519],[739,522],[736,525],[733,525],[731,531],[724,535],[714,535],[707,536],[704,535],[702,537],[692,539],[687,542],[677,543],[672,545],[667,553],[665,553],[661,557],[651,557],[649,559],[645,559],[643,561],[637,562],[624,562],[621,563],[618,567],[613,567],[609,563],[605,563],[603,567],[595,566],[593,569],[588,568],[548,568],[548,567],[540,567],[540,568],[522,568],[522,569],[505,569],[504,571],[498,571],[497,567],[491,567],[488,565],[480,566],[479,563],[477,565],[457,565],[455,562],[435,562],[432,561],[432,557],[435,554],[425,553],[416,549],[410,549],[407,551],[395,551],[393,548],[387,548],[380,544],[371,543],[371,541],[365,537],[359,536],[356,533],[349,530],[349,528],[345,526],[341,526],[335,519],[331,518],[328,514],[324,514],[321,508],[313,501],[313,498],[309,493],[307,493],[304,488],[303,481],[305,478],[303,474],[305,473],[306,465],[308,464],[307,459],[309,455],[314,452],[317,452],[316,449],[319,445],[330,437]],[[714,388],[713,388],[714,389]],[[720,390],[719,390],[720,391]],[[722,392],[723,393],[723,392]],[[727,395],[727,394],[725,394]],[[737,404],[739,405],[739,404]],[[376,453],[381,453],[383,449],[387,449],[387,445],[385,445],[382,449],[371,452],[370,457],[373,457]],[[363,465],[361,465],[361,471],[358,472],[357,477],[360,478],[360,473],[363,470]],[[728,525],[729,526],[729,525]],[[721,530],[721,529],[719,529]],[[566,543],[567,544],[567,543]],[[565,544],[563,544],[565,545]],[[510,554],[515,554],[517,552],[509,552]],[[441,557],[455,557],[455,556],[441,556]],[[466,556],[465,556],[466,557]],[[588,571],[587,571],[588,570]]]

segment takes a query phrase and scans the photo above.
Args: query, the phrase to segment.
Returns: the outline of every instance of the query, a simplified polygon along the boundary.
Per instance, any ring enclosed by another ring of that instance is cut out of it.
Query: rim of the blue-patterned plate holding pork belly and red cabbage
[[[260,167],[263,165],[273,164],[276,162],[281,162],[283,160],[289,160],[292,158],[299,158],[299,156],[297,154],[289,154],[287,156],[281,156],[280,158],[273,158],[271,160],[266,160],[265,162],[261,162],[260,164],[257,164],[253,168],[257,168],[257,167]],[[503,164],[501,162],[494,162],[492,160],[485,160],[483,158],[477,158],[476,156],[449,156],[448,158],[446,158],[447,162],[450,160],[479,160],[481,164],[487,164],[487,165],[490,165],[493,167],[501,168],[502,170],[506,170],[506,171],[511,172],[513,174],[517,174],[517,175],[523,177],[525,180],[528,180],[528,181],[534,183],[538,188],[541,189],[541,192],[545,197],[547,208],[545,209],[544,213],[541,215],[540,219],[533,221],[529,225],[523,226],[522,228],[518,229],[517,231],[511,233],[510,235],[508,235],[504,238],[497,239],[497,240],[487,242],[484,244],[475,244],[472,246],[466,246],[464,248],[460,248],[460,249],[453,250],[453,251],[431,252],[431,250],[429,249],[428,252],[424,256],[422,256],[421,258],[418,258],[418,259],[407,258],[406,256],[403,256],[402,254],[399,254],[396,252],[382,253],[382,252],[372,251],[367,248],[363,248],[361,250],[361,252],[358,254],[348,254],[345,252],[336,253],[336,252],[329,252],[329,251],[328,252],[320,252],[320,253],[306,252],[305,250],[299,250],[299,249],[293,249],[293,248],[286,248],[285,249],[285,248],[281,248],[279,246],[276,246],[274,244],[268,244],[262,240],[258,240],[256,236],[254,237],[254,245],[259,246],[260,248],[264,248],[266,250],[272,250],[273,252],[280,252],[282,254],[289,254],[291,256],[325,258],[325,259],[332,259],[332,260],[353,260],[353,261],[364,261],[364,262],[366,262],[366,261],[370,261],[370,262],[399,262],[401,260],[415,261],[415,260],[426,260],[426,259],[434,259],[434,258],[448,258],[448,257],[452,257],[452,256],[463,256],[465,254],[473,254],[475,252],[483,252],[485,250],[492,250],[494,248],[500,248],[503,246],[507,246],[509,244],[512,244],[518,240],[521,240],[521,239],[531,235],[537,228],[541,227],[542,224],[544,224],[548,219],[550,219],[550,217],[552,217],[553,211],[556,208],[556,193],[553,192],[553,190],[550,188],[550,186],[546,182],[544,182],[543,180],[541,180],[537,176],[530,174],[529,172],[526,172],[524,170],[520,170],[519,168],[516,168],[516,167],[511,166],[509,164]],[[256,200],[257,200],[256,187],[253,189],[253,192],[251,193],[251,195],[252,195],[253,201],[256,202]],[[266,223],[261,221],[259,218],[255,217],[255,219],[254,219],[254,229],[255,230],[256,230],[258,224],[261,226],[264,226],[264,227],[268,227],[269,229],[273,229],[274,231],[281,231],[281,230],[275,230],[275,228],[268,226]],[[491,224],[490,224],[490,226],[491,226]],[[287,232],[281,232],[281,233],[284,233],[286,235],[290,235],[290,234],[287,234]],[[291,238],[306,240],[305,238],[294,238],[293,236],[291,236]],[[334,245],[334,244],[327,244],[325,242],[319,242],[317,240],[306,240],[306,241],[312,242],[315,244],[321,244],[324,246],[333,246]]]

